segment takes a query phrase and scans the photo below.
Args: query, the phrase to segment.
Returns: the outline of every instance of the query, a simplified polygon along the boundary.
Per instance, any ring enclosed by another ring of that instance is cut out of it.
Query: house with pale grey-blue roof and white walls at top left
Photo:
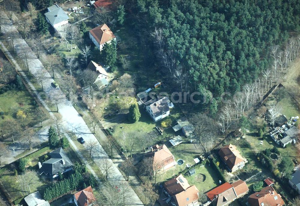
[[[47,22],[51,24],[55,31],[57,31],[60,26],[67,24],[69,19],[68,15],[57,4],[48,7],[45,16]]]

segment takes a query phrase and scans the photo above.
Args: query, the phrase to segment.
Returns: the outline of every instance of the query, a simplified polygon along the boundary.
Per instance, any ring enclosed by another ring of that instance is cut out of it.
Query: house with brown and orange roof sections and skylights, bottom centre
[[[195,185],[190,186],[182,174],[164,183],[164,199],[160,199],[161,205],[174,206],[198,206],[199,190]]]

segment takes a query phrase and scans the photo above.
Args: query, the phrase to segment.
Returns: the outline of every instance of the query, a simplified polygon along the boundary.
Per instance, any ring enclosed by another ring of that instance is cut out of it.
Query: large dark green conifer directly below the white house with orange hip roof
[[[102,60],[104,61],[104,64],[107,64],[110,67],[113,67],[117,61],[116,41],[111,40],[110,43],[105,43],[102,47],[100,54],[101,54]]]

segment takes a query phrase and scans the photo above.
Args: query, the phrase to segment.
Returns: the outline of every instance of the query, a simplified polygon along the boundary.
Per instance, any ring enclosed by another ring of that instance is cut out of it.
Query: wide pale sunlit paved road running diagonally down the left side
[[[2,25],[2,32],[4,34],[6,33],[15,33],[18,34],[18,31],[16,27],[12,24],[12,22],[8,19],[3,20],[3,25]],[[97,147],[95,149],[96,152],[92,154],[92,157],[94,158],[95,163],[99,166],[101,165],[101,162],[103,159],[107,159],[110,163],[113,164],[113,161],[108,157],[107,153],[104,151],[103,147],[100,145],[96,137],[91,133],[89,130],[88,126],[85,124],[85,121],[82,119],[82,117],[78,114],[76,109],[73,107],[70,101],[68,101],[63,94],[63,92],[60,89],[57,88],[52,88],[51,83],[54,81],[48,71],[45,69],[41,61],[36,57],[35,53],[32,51],[32,49],[29,47],[29,45],[26,43],[24,39],[17,38],[15,41],[15,50],[17,55],[22,55],[24,51],[29,51],[34,58],[32,61],[29,63],[29,70],[32,73],[33,76],[37,76],[38,73],[44,73],[45,79],[43,80],[43,85],[44,85],[44,93],[49,97],[50,101],[53,101],[57,97],[59,97],[58,101],[58,113],[61,115],[61,121],[62,121],[62,126],[64,127],[65,131],[71,131],[73,133],[78,133],[80,136],[82,136],[85,139],[85,142],[89,141],[95,141],[97,142]],[[2,44],[2,47],[4,45]],[[6,52],[10,58],[12,56],[10,53],[7,52],[7,50],[4,49],[4,52]],[[22,70],[17,62],[13,59],[13,63],[16,66],[17,70]],[[25,75],[24,73],[21,73],[22,75]],[[28,81],[28,79],[27,79]],[[29,84],[32,90],[36,91],[34,86],[32,84]],[[41,98],[40,98],[41,100]],[[47,107],[45,102],[41,100],[45,108],[50,112],[51,110]],[[51,112],[50,112],[51,114]],[[53,114],[52,114],[52,117]],[[89,166],[88,162],[86,159],[83,157],[79,149],[77,148],[76,144],[73,142],[73,140],[68,137],[68,140],[70,144],[73,146],[75,149],[76,153],[79,155],[79,157],[82,158],[82,160],[85,162],[86,166],[90,171],[95,175],[95,172],[92,170],[92,168]],[[128,185],[127,181],[125,181],[125,178],[117,168],[116,164],[113,164],[112,166],[113,172],[111,175],[109,175],[109,181],[113,181],[116,184],[120,185]],[[102,171],[104,173],[104,171]],[[95,175],[96,176],[96,175]],[[96,176],[97,177],[97,176]],[[137,194],[134,192],[134,190],[131,187],[128,187],[128,196],[130,196],[127,201],[130,202],[128,205],[143,205],[142,201],[140,198],[137,196]]]

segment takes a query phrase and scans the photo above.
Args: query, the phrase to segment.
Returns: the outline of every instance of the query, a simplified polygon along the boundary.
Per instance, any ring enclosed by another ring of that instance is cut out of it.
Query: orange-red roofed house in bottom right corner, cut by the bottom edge
[[[249,196],[250,206],[281,206],[284,205],[281,196],[276,193],[272,186],[264,187],[261,191]]]

